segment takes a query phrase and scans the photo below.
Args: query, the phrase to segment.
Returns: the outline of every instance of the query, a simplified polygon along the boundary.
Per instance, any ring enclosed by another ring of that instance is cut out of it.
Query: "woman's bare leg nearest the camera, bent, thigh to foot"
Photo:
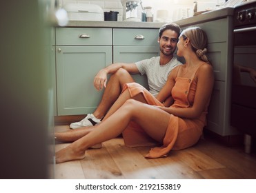
[[[130,121],[135,121],[156,141],[162,142],[170,114],[159,108],[135,100],[128,100],[105,121],[95,125],[92,132],[56,152],[56,163],[83,159],[92,145],[113,139],[123,132]],[[157,125],[157,128],[156,128]]]

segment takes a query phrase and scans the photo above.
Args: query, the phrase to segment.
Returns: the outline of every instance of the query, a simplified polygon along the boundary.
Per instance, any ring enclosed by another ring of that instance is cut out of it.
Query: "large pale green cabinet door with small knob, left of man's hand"
[[[93,112],[103,92],[94,88],[95,74],[112,63],[112,46],[57,46],[57,114]]]

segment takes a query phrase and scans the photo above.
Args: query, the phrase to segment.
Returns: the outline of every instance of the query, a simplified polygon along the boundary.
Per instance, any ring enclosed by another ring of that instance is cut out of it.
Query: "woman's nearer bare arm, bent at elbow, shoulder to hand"
[[[195,119],[204,111],[206,104],[210,100],[214,85],[214,73],[211,65],[201,65],[197,71],[197,90],[195,93],[195,100],[193,106],[190,108],[166,108],[159,107],[162,110],[175,116],[180,116],[188,119]]]

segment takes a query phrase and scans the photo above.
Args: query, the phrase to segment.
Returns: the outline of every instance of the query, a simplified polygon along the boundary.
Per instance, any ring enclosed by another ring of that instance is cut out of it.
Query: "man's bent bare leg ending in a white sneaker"
[[[106,89],[104,90],[102,99],[95,112],[88,114],[85,119],[79,122],[71,123],[70,128],[76,129],[83,126],[91,126],[95,125],[95,123],[99,123],[106,112],[108,112],[112,104],[115,103],[115,101],[118,99],[124,84],[132,82],[134,82],[134,80],[130,76],[129,72],[122,68],[117,70],[117,72],[112,74],[110,77]]]

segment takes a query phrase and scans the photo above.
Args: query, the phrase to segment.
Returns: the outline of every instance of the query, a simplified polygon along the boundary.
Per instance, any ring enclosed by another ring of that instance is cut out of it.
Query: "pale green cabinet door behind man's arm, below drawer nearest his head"
[[[143,59],[150,59],[159,55],[159,46],[114,46],[114,63],[125,62],[135,63]],[[148,88],[148,79],[146,75],[133,74],[135,82]]]

